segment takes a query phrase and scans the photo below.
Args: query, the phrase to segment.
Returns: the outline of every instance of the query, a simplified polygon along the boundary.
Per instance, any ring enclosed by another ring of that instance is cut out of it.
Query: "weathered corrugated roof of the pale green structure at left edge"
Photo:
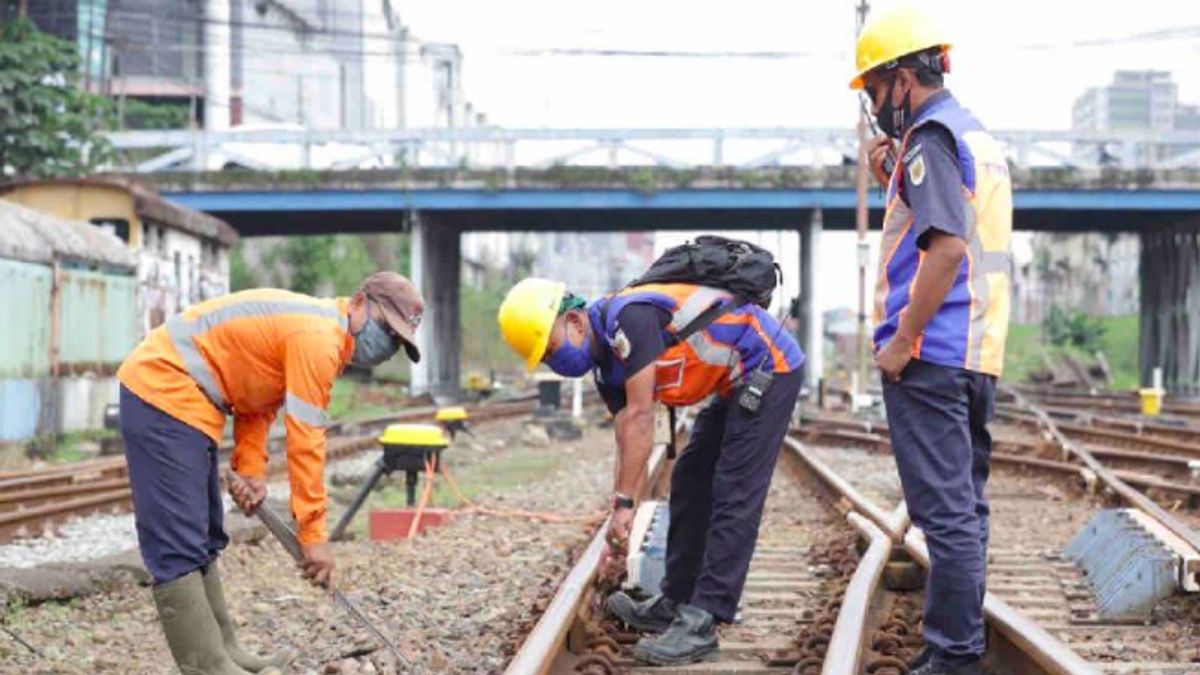
[[[0,257],[36,263],[72,258],[132,269],[124,241],[90,223],[43,214],[0,199]]]

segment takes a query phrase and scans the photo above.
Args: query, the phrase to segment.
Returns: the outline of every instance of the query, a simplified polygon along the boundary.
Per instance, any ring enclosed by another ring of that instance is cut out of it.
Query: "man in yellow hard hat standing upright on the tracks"
[[[919,675],[983,673],[988,423],[1012,269],[1008,163],[942,88],[948,52],[918,12],[882,13],[863,26],[851,83],[866,92],[886,135],[870,149],[888,190],[875,363],[905,501],[929,544],[926,647],[912,671]]]

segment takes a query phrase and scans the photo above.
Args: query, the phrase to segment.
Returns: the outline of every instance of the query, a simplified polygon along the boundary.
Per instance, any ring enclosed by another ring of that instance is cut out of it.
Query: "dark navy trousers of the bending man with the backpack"
[[[696,416],[671,472],[668,598],[733,621],[800,382],[799,371],[776,376],[754,413],[732,395]]]

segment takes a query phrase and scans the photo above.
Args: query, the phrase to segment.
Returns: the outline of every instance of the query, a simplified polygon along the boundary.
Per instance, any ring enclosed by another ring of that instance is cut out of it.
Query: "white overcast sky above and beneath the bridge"
[[[872,10],[889,4],[880,0]],[[857,101],[846,86],[853,70],[854,5],[854,0],[397,4],[418,38],[461,47],[468,100],[491,124],[514,127],[850,126],[857,114]],[[1117,68],[1172,71],[1181,100],[1200,103],[1196,0],[928,5],[954,42],[950,89],[990,127],[1067,129],[1075,97],[1110,82]],[[769,52],[785,58],[530,55],[556,49]],[[827,264],[817,275],[823,280],[818,303],[853,304],[852,240],[827,239],[822,249]]]

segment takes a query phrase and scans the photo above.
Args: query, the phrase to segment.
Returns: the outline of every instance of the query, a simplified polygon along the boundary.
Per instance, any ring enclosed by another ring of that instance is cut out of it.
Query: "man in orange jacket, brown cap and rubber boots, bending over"
[[[233,417],[232,490],[246,513],[266,497],[266,435],[282,407],[300,567],[334,581],[325,545],[325,410],[347,364],[378,365],[404,347],[420,359],[424,303],[403,276],[371,275],[350,298],[263,288],[194,305],[154,329],[130,354],[121,381],[121,434],[138,543],[170,652],[185,674],[241,675],[283,668],[234,635],[216,556],[228,543],[217,444]]]

